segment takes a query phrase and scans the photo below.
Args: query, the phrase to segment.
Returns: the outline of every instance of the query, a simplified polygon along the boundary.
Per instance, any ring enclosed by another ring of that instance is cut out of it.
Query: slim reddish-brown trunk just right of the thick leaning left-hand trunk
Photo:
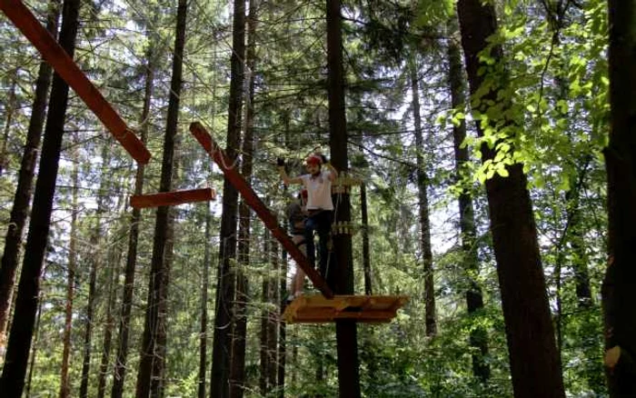
[[[75,136],[75,142],[77,144],[78,139]],[[62,365],[60,373],[60,398],[66,398],[71,393],[68,385],[68,362],[71,356],[71,327],[73,325],[73,300],[75,296],[75,269],[77,268],[77,212],[78,201],[77,191],[79,186],[79,172],[77,171],[79,157],[77,155],[77,149],[74,147],[72,150],[73,171],[72,173],[72,205],[71,205],[71,236],[68,244],[68,270],[66,278],[66,305],[65,305],[65,328],[62,342],[64,348],[62,349]]]

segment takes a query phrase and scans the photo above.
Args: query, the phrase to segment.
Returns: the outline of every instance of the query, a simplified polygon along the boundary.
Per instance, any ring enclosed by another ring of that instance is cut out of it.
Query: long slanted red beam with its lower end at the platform
[[[253,191],[252,187],[247,184],[243,175],[236,170],[234,162],[230,160],[224,153],[223,149],[214,142],[210,134],[208,134],[207,130],[205,130],[204,125],[194,122],[193,124],[190,124],[190,132],[194,135],[199,144],[204,147],[205,152],[210,154],[210,157],[212,157],[214,162],[218,164],[224,172],[225,178],[227,178],[227,180],[234,185],[234,188],[243,195],[245,203],[249,204],[250,207],[253,208],[253,211],[261,220],[263,220],[265,226],[272,231],[273,236],[278,239],[281,244],[283,244],[287,253],[292,256],[296,264],[298,264],[303,269],[304,273],[307,274],[307,277],[309,277],[312,281],[313,286],[320,290],[324,297],[328,299],[333,298],[333,292],[327,283],[324,282],[323,277],[318,274],[315,269],[313,269],[313,266],[309,264],[309,261],[303,252],[301,252],[298,247],[293,244],[292,239],[290,239],[283,227],[278,224],[276,217],[269,211],[267,206],[263,204],[263,201]]]

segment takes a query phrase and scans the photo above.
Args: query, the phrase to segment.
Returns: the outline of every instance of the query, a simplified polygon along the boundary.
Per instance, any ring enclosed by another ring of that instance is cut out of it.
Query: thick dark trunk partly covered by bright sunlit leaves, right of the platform
[[[460,0],[458,14],[462,32],[462,46],[471,93],[477,92],[487,72],[479,74],[479,54],[486,48],[487,39],[496,32],[494,8],[480,0]],[[491,56],[502,62],[502,48],[494,45]],[[482,96],[482,106],[475,109],[482,114],[485,104],[502,103],[498,98],[505,88],[500,86]],[[507,109],[511,104],[502,104]],[[512,121],[506,122],[509,125]],[[478,133],[483,131],[478,125]],[[494,151],[482,145],[484,162],[494,158]],[[486,181],[491,214],[491,232],[502,292],[503,317],[506,324],[510,353],[512,386],[515,397],[563,397],[561,363],[554,342],[554,328],[537,243],[537,231],[532,203],[522,164],[506,167],[507,177],[499,174]]]

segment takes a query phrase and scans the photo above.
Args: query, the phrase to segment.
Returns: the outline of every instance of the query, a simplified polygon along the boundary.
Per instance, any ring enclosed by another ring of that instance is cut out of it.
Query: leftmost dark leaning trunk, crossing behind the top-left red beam
[[[51,10],[46,22],[46,29],[53,35],[56,34],[57,20],[60,15],[58,5],[57,0],[51,2]],[[35,98],[31,118],[29,119],[29,127],[26,133],[25,152],[22,154],[17,187],[15,188],[14,205],[11,209],[11,218],[9,219],[5,236],[5,252],[0,266],[0,342],[5,341],[3,336],[9,320],[15,271],[17,270],[26,217],[29,212],[36,156],[45,124],[46,101],[48,99],[49,86],[51,85],[52,71],[50,65],[44,61],[40,63],[37,72],[37,82],[35,83]]]

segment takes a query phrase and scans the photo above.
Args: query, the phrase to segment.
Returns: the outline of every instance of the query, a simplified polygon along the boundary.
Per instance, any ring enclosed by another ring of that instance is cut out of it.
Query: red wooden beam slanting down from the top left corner
[[[75,90],[75,93],[102,121],[114,138],[124,145],[125,150],[133,156],[134,160],[140,164],[148,163],[150,152],[144,143],[134,135],[113,106],[104,99],[104,96],[75,64],[73,58],[37,21],[28,8],[20,0],[0,0],[0,8],[22,34],[35,45],[45,61],[53,66],[57,75],[60,75]]]

